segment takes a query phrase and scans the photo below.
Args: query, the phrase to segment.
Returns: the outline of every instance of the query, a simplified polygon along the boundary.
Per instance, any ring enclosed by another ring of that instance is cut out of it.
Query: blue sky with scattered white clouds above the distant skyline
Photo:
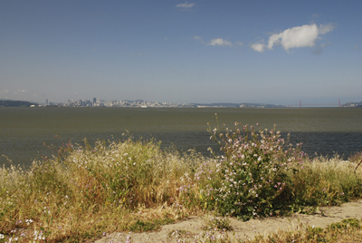
[[[2,0],[0,99],[362,101],[360,0]]]

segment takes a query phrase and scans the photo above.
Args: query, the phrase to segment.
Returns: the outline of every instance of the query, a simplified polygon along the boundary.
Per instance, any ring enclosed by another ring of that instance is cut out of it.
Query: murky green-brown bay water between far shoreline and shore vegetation
[[[234,121],[262,128],[277,129],[291,142],[303,142],[309,154],[333,155],[346,158],[362,151],[361,108],[5,108],[0,107],[0,154],[14,164],[31,164],[41,154],[51,151],[43,146],[59,144],[54,135],[64,141],[90,143],[100,140],[121,140],[129,131],[135,138],[153,137],[162,146],[172,144],[178,150],[196,149],[207,155],[214,146],[209,140],[207,122],[216,125],[215,113],[221,123],[233,128]],[[0,164],[6,160],[2,157]]]

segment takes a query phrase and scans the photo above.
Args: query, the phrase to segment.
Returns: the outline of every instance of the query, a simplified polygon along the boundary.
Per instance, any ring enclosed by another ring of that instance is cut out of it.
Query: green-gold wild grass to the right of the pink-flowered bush
[[[360,198],[362,170],[356,170],[356,166],[356,162],[340,160],[338,156],[307,160],[304,169],[291,180],[294,195],[291,209],[303,211]]]

